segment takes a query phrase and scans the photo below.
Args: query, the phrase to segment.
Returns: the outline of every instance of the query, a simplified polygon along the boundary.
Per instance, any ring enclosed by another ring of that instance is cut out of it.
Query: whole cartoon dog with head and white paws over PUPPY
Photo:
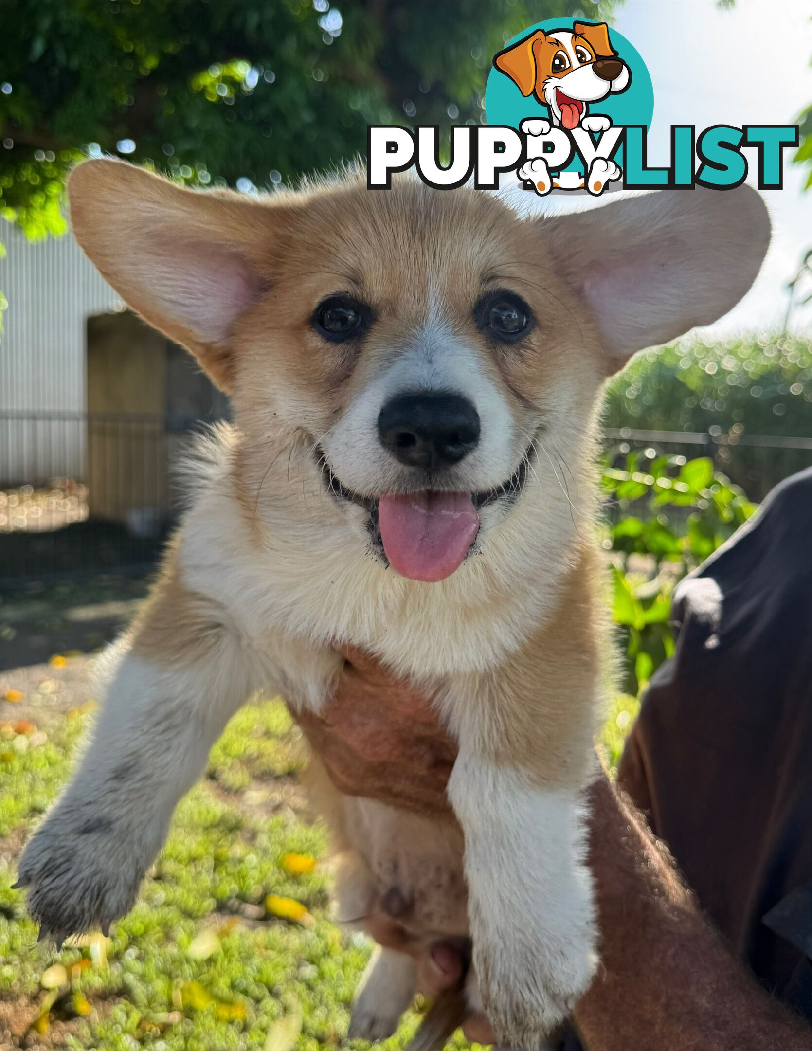
[[[611,45],[605,22],[574,22],[571,29],[537,29],[523,40],[494,56],[494,66],[518,86],[525,98],[533,96],[549,110],[551,124],[567,131],[582,127],[586,131],[606,131],[611,121],[603,115],[588,114],[590,103],[625,91],[631,83],[631,70]],[[522,121],[521,130],[529,136],[547,135],[550,122],[543,119]],[[533,184],[539,194],[554,187],[600,193],[608,182],[620,179],[621,169],[613,161],[596,158],[586,179],[562,172],[550,178],[542,157],[528,160],[519,177]]]

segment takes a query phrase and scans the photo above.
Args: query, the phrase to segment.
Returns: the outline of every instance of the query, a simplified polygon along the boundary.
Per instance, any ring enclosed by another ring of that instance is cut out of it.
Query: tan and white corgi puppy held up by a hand
[[[459,751],[445,821],[345,797],[314,760],[339,908],[388,899],[417,943],[470,935],[500,1043],[537,1046],[598,959],[601,388],[747,291],[761,198],[521,218],[407,176],[247,197],[112,160],[68,191],[100,272],[196,355],[236,423],[201,451],[92,743],[26,847],[32,915],[62,939],[126,913],[231,715],[257,691],[318,712],[358,647],[433,697]],[[392,1032],[414,989],[410,957],[376,953],[353,1035]]]

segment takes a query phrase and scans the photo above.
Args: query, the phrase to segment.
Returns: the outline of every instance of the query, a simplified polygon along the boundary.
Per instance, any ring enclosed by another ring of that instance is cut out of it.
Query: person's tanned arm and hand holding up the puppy
[[[329,733],[319,738],[319,754],[329,753],[330,765],[342,770],[341,790],[370,795],[365,763],[370,735],[375,743],[369,750],[376,763],[387,761],[389,771],[386,783],[375,783],[376,798],[403,806],[414,797],[420,809],[426,802],[437,811],[447,809],[446,769],[432,767],[436,742],[422,761],[414,750],[409,763],[400,758],[401,744],[412,740],[410,705],[419,713],[421,736],[431,739],[429,703],[416,694],[409,703],[401,698],[393,719],[379,707],[377,716],[371,716],[368,700],[362,692],[339,691],[329,709],[333,724],[342,723],[345,715],[352,719],[356,706],[367,710],[355,723],[351,763],[334,747]],[[309,730],[308,736],[312,742]],[[441,737],[438,725],[437,739]],[[733,957],[703,916],[667,850],[622,792],[601,777],[589,790],[589,804],[602,966],[574,1019],[590,1051],[809,1051],[809,1027],[757,986]],[[369,929],[379,941],[398,947],[393,921],[373,916]],[[461,969],[459,956],[442,944],[418,961],[422,986],[432,993],[456,985]],[[493,1038],[482,1017],[469,1019],[466,1033],[471,1039]]]

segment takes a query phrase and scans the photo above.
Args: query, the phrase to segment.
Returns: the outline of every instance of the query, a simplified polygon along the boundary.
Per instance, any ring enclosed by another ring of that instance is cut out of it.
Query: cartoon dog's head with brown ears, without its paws
[[[494,66],[549,109],[553,123],[571,131],[590,102],[625,91],[631,71],[609,41],[605,22],[575,22],[571,29],[537,29],[494,56]],[[608,125],[607,125],[608,126]]]

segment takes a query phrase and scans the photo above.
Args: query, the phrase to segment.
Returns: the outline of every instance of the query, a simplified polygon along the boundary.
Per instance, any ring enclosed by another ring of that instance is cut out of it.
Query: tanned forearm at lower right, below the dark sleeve
[[[604,778],[590,804],[602,967],[575,1015],[589,1051],[810,1051],[810,1028],[731,955],[640,812]]]

